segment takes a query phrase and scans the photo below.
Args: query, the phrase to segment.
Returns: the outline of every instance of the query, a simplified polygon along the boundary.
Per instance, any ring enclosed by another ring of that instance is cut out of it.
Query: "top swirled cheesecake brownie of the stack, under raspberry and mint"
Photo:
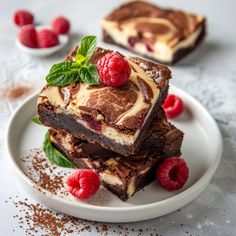
[[[73,60],[75,51],[66,60]],[[96,64],[108,52],[97,48],[90,62]],[[37,103],[41,122],[122,155],[135,154],[166,98],[171,72],[137,57],[125,59],[131,75],[123,87],[45,86]]]

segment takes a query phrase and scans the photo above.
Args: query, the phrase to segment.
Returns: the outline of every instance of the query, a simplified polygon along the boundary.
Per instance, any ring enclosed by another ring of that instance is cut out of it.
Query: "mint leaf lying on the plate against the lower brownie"
[[[52,145],[49,132],[47,132],[44,137],[43,151],[52,163],[61,167],[74,167],[74,165]]]

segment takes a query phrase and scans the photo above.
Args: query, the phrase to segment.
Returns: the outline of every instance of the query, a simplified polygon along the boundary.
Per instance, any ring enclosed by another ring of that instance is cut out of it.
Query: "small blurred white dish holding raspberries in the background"
[[[47,25],[36,26],[36,30],[41,30],[41,29],[50,29],[50,26],[47,26]],[[29,55],[37,56],[37,57],[46,57],[46,56],[49,56],[49,55],[61,50],[63,47],[65,47],[65,45],[69,41],[69,36],[67,34],[64,34],[64,35],[60,34],[60,35],[58,35],[58,39],[59,39],[59,44],[54,47],[29,48],[29,47],[26,47],[25,45],[23,45],[17,37],[16,38],[16,46],[20,50],[22,50],[23,52],[25,52]]]

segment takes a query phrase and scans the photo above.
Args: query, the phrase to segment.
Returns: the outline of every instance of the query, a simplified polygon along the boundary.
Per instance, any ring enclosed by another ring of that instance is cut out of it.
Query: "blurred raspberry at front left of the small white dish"
[[[24,25],[20,28],[18,34],[19,41],[30,48],[37,48],[37,32],[33,25]]]

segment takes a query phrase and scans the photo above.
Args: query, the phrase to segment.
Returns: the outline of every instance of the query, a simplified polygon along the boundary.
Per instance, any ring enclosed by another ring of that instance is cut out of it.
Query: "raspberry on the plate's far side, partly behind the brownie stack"
[[[168,94],[162,107],[168,118],[174,118],[183,111],[184,103],[180,97],[174,94]]]

